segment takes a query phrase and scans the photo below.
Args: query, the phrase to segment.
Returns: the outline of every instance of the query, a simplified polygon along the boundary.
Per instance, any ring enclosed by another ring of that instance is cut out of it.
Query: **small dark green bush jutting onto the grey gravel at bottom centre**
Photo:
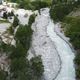
[[[34,75],[37,75],[38,78],[41,78],[44,72],[41,56],[34,57],[30,61],[31,61],[31,67],[34,71]]]

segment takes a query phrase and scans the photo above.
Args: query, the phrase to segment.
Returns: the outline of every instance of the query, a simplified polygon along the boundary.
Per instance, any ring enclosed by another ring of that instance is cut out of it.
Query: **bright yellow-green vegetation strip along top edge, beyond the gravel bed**
[[[35,1],[17,0],[16,2],[18,2],[19,8],[31,9],[31,10],[39,10],[41,8],[50,6],[50,4],[47,1],[41,1],[41,0],[35,0]]]

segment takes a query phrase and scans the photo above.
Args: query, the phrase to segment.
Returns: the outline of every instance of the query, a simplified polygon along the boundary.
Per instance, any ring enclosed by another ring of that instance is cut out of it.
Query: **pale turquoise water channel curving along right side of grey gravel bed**
[[[75,80],[75,69],[73,63],[74,53],[72,52],[70,46],[55,33],[54,27],[55,25],[52,21],[50,21],[47,26],[47,33],[51,40],[55,43],[62,60],[61,72],[55,80]]]

